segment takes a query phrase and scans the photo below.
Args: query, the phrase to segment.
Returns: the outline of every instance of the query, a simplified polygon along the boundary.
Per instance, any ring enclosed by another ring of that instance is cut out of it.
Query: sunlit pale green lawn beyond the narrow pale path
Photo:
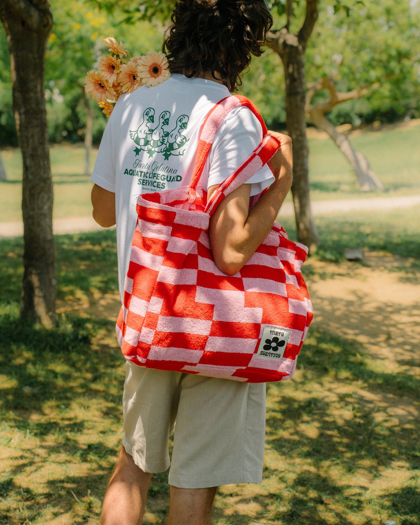
[[[369,131],[351,139],[370,160],[386,187],[385,195],[420,193],[420,125]],[[309,169],[312,199],[365,198],[382,192],[361,192],[344,157],[331,139],[310,138]],[[92,152],[91,167],[97,150]],[[50,150],[54,180],[54,217],[91,214],[89,177],[82,175],[84,150],[79,146],[54,146]],[[9,181],[0,181],[0,222],[20,220],[22,159],[19,150],[2,152]],[[290,195],[288,197],[290,199]]]

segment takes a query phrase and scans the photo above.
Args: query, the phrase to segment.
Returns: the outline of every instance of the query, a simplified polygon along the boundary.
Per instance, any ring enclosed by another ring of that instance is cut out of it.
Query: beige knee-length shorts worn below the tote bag
[[[265,383],[241,383],[125,363],[122,443],[145,472],[171,466],[169,484],[259,483]],[[176,420],[176,425],[175,425]],[[172,461],[169,436],[174,430]]]

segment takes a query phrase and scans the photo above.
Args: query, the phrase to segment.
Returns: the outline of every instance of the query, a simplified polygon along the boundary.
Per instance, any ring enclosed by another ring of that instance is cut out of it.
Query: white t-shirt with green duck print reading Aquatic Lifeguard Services
[[[103,133],[91,179],[116,193],[121,300],[137,222],[137,197],[188,185],[204,118],[216,102],[228,96],[228,89],[212,80],[172,75],[159,86],[142,86],[118,99]],[[261,124],[248,108],[230,112],[208,155],[203,188],[232,175],[261,140]],[[274,176],[265,165],[249,179],[251,195],[272,182]]]

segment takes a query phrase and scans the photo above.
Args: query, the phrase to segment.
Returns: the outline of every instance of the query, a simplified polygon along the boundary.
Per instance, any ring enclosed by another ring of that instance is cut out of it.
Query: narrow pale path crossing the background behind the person
[[[361,199],[341,199],[337,201],[313,201],[311,204],[313,215],[327,215],[330,213],[346,213],[363,209],[366,211],[387,210],[395,208],[409,208],[420,205],[420,195],[403,197],[374,197]],[[280,217],[294,215],[293,205],[290,202],[283,204]],[[96,232],[103,229],[92,217],[67,217],[54,219],[55,235],[69,233]],[[19,237],[23,235],[23,222],[0,222],[0,237]]]

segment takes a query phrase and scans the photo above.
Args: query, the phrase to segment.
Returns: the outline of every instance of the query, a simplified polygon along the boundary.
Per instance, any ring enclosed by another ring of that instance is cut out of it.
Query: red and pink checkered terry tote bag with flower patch
[[[261,144],[206,204],[201,175],[227,114],[241,105],[258,117]],[[312,319],[300,267],[307,248],[277,222],[245,266],[230,277],[213,260],[211,215],[278,150],[277,139],[245,97],[207,114],[188,186],[138,197],[138,220],[117,335],[125,359],[140,366],[236,381],[289,379]],[[250,206],[258,197],[251,197]]]

